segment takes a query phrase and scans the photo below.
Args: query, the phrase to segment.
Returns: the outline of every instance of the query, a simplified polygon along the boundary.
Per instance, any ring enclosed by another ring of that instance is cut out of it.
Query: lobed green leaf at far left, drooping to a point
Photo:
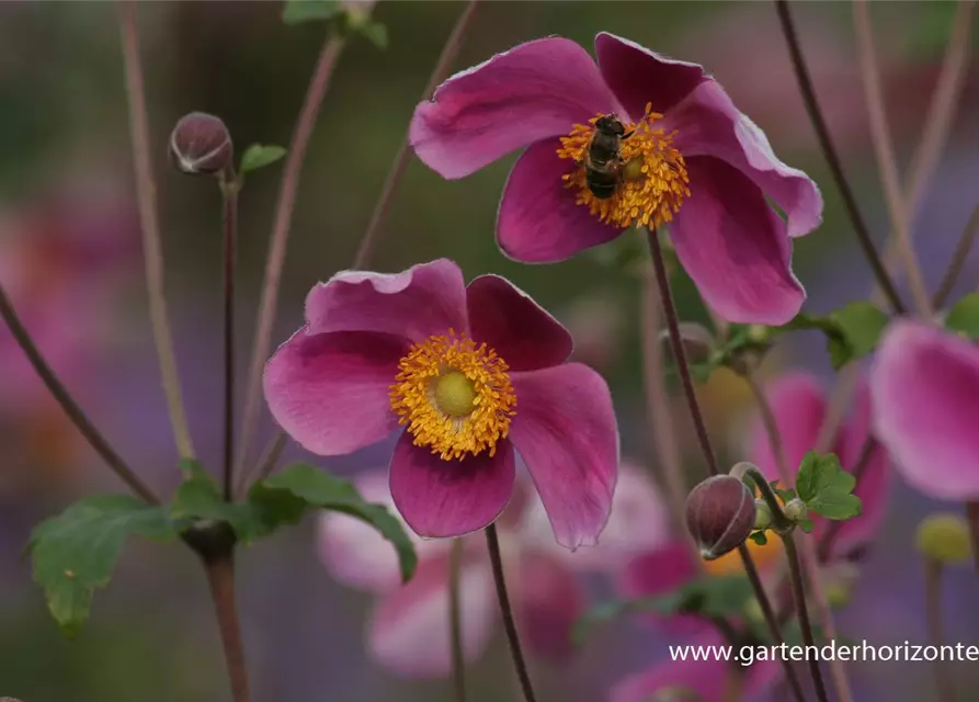
[[[128,495],[88,497],[34,528],[27,544],[34,581],[44,588],[48,609],[69,638],[81,632],[95,588],[109,584],[132,534],[170,541],[177,531],[166,508]]]

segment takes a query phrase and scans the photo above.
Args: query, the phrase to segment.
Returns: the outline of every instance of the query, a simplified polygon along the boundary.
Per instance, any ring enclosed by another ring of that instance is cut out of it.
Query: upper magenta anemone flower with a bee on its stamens
[[[415,154],[457,179],[526,147],[497,218],[497,241],[513,259],[560,261],[633,225],[669,224],[676,256],[718,314],[792,319],[806,294],[790,240],[821,220],[817,185],[775,157],[701,66],[606,33],[595,54],[597,64],[574,42],[549,37],[456,73],[415,109]],[[622,136],[608,167],[614,191],[600,196],[587,160],[599,118],[610,115]]]

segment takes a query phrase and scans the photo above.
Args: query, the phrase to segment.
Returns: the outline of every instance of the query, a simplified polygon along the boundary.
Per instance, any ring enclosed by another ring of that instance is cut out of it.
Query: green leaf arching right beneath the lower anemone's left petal
[[[365,502],[356,488],[319,468],[297,463],[252,486],[249,505],[257,510],[252,537],[271,533],[283,524],[298,522],[309,508],[322,508],[355,517],[372,526],[395,546],[401,565],[401,579],[414,574],[418,556],[401,522],[383,505]]]

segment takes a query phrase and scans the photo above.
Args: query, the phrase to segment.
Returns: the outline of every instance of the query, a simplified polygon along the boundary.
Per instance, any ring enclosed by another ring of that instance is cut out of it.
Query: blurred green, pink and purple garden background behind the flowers
[[[205,464],[220,449],[219,193],[208,179],[169,167],[167,137],[184,113],[227,123],[238,151],[287,145],[323,39],[319,24],[286,26],[282,0],[170,0],[139,3],[152,143],[167,261],[167,293],[194,441]],[[872,228],[888,225],[855,68],[850,3],[799,5],[797,20],[830,126]],[[389,46],[353,42],[344,52],[317,125],[299,188],[275,340],[301,324],[317,281],[348,268],[391,158],[462,0],[382,2],[375,18]],[[806,7],[801,7],[806,5]],[[818,7],[817,7],[818,5]],[[902,163],[920,135],[941,65],[954,0],[877,3],[877,45],[888,116]],[[796,88],[772,2],[683,3],[496,0],[475,19],[456,69],[520,42],[561,34],[590,48],[611,31],[703,64],[742,111],[766,131],[786,162],[809,172],[826,196],[824,225],[797,240],[795,269],[807,306],[826,312],[868,294],[870,276],[843,216]],[[977,197],[979,71],[971,70],[933,186],[915,223],[927,280],[937,284]],[[0,0],[0,272],[42,351],[119,452],[164,495],[178,484],[147,317],[133,194],[125,93],[114,3]],[[373,267],[399,271],[436,257],[467,278],[511,278],[572,329],[580,358],[613,386],[623,453],[652,467],[646,441],[638,352],[637,279],[601,251],[556,265],[523,267],[493,244],[501,188],[513,158],[446,182],[417,161],[408,168],[383,228]],[[241,197],[238,352],[247,367],[281,165],[251,176]],[[970,262],[963,290],[975,287]],[[683,316],[703,317],[690,284]],[[205,579],[186,550],[132,543],[111,586],[95,599],[82,635],[68,642],[49,618],[30,563],[30,530],[72,499],[122,486],[65,420],[0,330],[0,695],[24,702],[213,702],[229,700]],[[829,382],[819,337],[790,337],[766,375],[809,369]],[[243,373],[239,378],[243,390]],[[712,429],[737,460],[749,394],[719,374],[704,392]],[[692,485],[705,475],[676,412]],[[272,435],[267,415],[262,439]],[[383,466],[390,446],[317,460],[354,475]],[[291,456],[299,453],[289,449]],[[937,508],[896,485],[879,542],[861,564],[851,604],[839,618],[852,638],[923,642],[920,518]],[[365,652],[367,595],[337,584],[317,557],[315,523],[283,531],[239,556],[244,642],[254,699],[283,702],[449,700],[442,680],[400,679]],[[946,581],[947,638],[977,643],[979,608],[969,568]],[[595,584],[596,591],[607,585]],[[667,655],[661,636],[622,622],[596,632],[570,665],[534,664],[546,700],[593,702],[624,675]],[[420,645],[424,645],[421,643]],[[954,668],[964,689],[975,667]],[[931,699],[925,664],[853,664],[861,700]],[[516,700],[502,637],[470,669],[477,702]],[[777,691],[775,694],[778,694]]]

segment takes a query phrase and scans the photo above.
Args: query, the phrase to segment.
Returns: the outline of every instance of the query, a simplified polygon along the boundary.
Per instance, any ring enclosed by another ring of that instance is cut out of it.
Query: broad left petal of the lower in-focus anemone
[[[308,451],[351,453],[398,427],[390,386],[403,339],[373,331],[310,335],[303,327],[265,364],[265,401],[275,421]]]

